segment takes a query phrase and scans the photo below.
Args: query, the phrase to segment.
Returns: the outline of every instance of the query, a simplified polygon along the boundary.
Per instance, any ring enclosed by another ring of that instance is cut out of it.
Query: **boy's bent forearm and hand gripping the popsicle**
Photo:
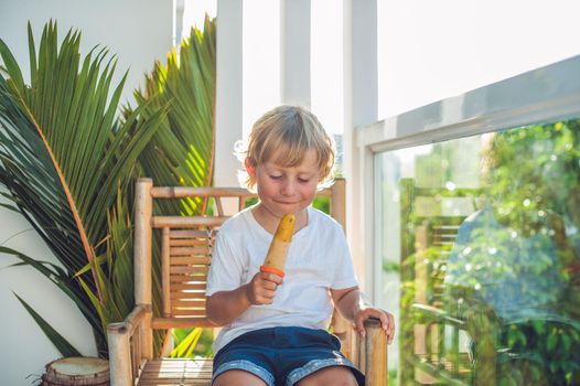
[[[219,291],[207,297],[207,319],[215,325],[232,323],[251,304],[271,304],[282,279],[273,274],[258,272],[250,282],[232,291]]]

